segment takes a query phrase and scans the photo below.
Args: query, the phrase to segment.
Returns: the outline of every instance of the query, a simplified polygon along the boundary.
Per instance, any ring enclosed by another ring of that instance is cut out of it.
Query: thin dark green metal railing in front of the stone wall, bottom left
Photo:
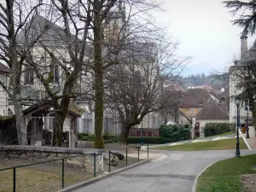
[[[7,168],[3,168],[0,169],[0,172],[2,171],[6,171],[6,170],[12,170],[13,169],[13,191],[16,191],[16,170],[17,168],[20,167],[26,167],[26,166],[34,166],[34,165],[38,165],[38,164],[44,164],[44,163],[49,163],[49,162],[54,162],[57,160],[61,160],[61,188],[63,189],[65,187],[65,160],[67,159],[72,159],[72,158],[76,158],[76,157],[81,157],[81,156],[85,156],[85,155],[91,155],[91,154],[79,154],[76,156],[71,156],[71,157],[63,157],[63,158],[59,158],[59,159],[55,159],[55,160],[44,160],[44,161],[40,161],[37,163],[30,163],[30,164],[26,164],[26,165],[20,165],[20,166],[11,166],[11,167],[7,167]],[[93,176],[96,177],[96,153],[93,154],[94,157],[94,169],[93,169]]]

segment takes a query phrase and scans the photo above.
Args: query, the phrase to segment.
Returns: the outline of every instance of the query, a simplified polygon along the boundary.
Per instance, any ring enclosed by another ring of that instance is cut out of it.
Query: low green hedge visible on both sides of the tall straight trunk
[[[89,141],[94,142],[95,135],[89,133],[79,133],[78,134],[79,141]],[[111,133],[103,134],[104,143],[119,143],[119,137]]]

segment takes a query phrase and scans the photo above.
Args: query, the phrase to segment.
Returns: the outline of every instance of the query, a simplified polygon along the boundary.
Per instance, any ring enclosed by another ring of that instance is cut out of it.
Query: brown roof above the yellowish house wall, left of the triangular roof
[[[183,101],[180,108],[203,108],[204,105],[211,99],[207,90],[191,89],[183,93]]]

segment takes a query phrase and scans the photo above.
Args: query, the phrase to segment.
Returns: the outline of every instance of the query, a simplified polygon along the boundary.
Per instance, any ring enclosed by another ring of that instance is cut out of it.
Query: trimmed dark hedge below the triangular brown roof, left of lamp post
[[[207,123],[204,128],[205,136],[216,136],[225,132],[236,131],[236,125],[230,123]]]

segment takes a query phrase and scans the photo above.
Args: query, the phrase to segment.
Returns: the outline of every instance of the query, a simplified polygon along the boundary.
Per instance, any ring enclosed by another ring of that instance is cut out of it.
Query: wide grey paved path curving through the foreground
[[[235,143],[234,143],[235,144]],[[165,160],[149,162],[92,183],[76,192],[189,192],[206,166],[234,157],[235,151],[166,152]],[[241,155],[256,154],[242,150]]]

